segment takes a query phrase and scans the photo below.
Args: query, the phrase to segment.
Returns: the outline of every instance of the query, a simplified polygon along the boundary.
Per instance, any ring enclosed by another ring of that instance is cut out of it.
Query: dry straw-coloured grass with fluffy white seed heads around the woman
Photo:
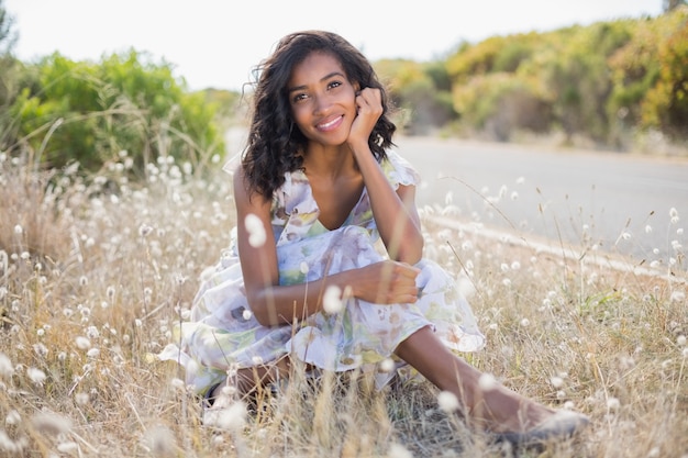
[[[122,158],[86,181],[0,159],[1,456],[509,456],[447,417],[419,379],[380,393],[356,373],[317,384],[297,373],[252,414],[202,426],[182,373],[153,355],[229,244],[229,179],[160,161],[134,185]],[[515,455],[688,456],[681,245],[675,275],[651,276],[485,237],[470,222],[439,225],[442,210],[423,210],[428,256],[468,272],[488,336],[466,358],[593,420],[574,440]]]

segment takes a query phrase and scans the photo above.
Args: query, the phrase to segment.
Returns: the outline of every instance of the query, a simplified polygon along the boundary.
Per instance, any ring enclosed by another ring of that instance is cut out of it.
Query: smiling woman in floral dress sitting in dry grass
[[[167,358],[209,402],[228,383],[248,393],[287,377],[292,358],[371,370],[382,386],[391,358],[455,394],[462,414],[497,439],[573,434],[587,417],[480,388],[481,373],[456,355],[481,348],[484,336],[454,279],[422,257],[419,177],[389,150],[388,116],[370,63],[341,36],[280,41],[258,68],[234,172],[233,247]]]

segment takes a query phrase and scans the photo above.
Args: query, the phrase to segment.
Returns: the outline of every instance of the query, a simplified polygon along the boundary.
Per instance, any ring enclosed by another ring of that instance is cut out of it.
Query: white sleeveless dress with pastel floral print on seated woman
[[[395,152],[381,163],[397,189],[417,186],[419,176]],[[328,230],[318,220],[318,204],[306,174],[287,172],[271,205],[280,284],[308,283],[328,275],[385,259],[370,201],[364,188],[344,224]],[[232,369],[260,366],[286,354],[324,370],[355,368],[375,372],[378,387],[393,376],[380,362],[424,326],[431,326],[450,348],[474,351],[485,344],[456,279],[434,261],[422,259],[415,303],[377,305],[345,299],[337,313],[319,312],[296,325],[264,326],[246,300],[235,241],[212,273],[202,280],[191,319],[177,327],[173,344],[159,355],[179,361],[197,392],[221,382]]]

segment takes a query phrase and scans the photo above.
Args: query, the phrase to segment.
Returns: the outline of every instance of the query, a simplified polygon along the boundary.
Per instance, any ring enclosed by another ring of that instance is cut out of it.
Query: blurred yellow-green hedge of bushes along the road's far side
[[[410,112],[410,132],[666,154],[688,139],[687,58],[684,4],[657,18],[463,43],[434,63],[378,65]]]

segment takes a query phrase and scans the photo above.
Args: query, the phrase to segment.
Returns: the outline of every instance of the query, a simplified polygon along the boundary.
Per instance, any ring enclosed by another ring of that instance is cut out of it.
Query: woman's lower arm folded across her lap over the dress
[[[380,261],[359,269],[331,275],[307,284],[279,286],[277,247],[270,224],[271,202],[254,193],[248,194],[243,170],[234,174],[234,201],[236,204],[236,244],[241,259],[246,299],[256,320],[265,325],[291,323],[303,320],[322,309],[322,295],[329,286],[342,291],[351,288],[352,294],[368,302],[414,302],[418,290],[418,269],[402,262]],[[255,215],[263,224],[265,242],[251,239],[245,221]],[[252,243],[253,242],[253,243]]]

